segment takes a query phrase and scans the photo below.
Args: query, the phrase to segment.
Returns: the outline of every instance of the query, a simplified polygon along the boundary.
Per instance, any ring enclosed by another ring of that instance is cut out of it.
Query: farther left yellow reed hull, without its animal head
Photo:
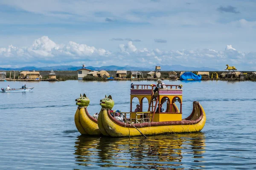
[[[75,119],[76,128],[79,132],[83,135],[102,135],[101,131],[99,130],[99,126],[97,124],[97,119],[94,119],[87,111],[87,108],[78,108],[79,110],[79,119]],[[76,114],[75,114],[76,116]],[[80,121],[80,122],[79,122]],[[83,129],[81,129],[81,127]],[[84,131],[86,133],[84,133]]]

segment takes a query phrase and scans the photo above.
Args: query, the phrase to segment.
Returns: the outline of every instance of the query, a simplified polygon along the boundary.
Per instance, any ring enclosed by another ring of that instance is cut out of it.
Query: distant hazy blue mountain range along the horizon
[[[209,67],[186,67],[183,65],[157,65],[161,66],[161,71],[219,71],[215,68],[209,68]],[[21,67],[21,68],[0,68],[0,71],[76,71],[81,69],[82,67],[74,66],[74,65],[57,65],[57,66],[51,66],[51,67]],[[131,67],[131,66],[124,66],[119,67],[116,65],[109,65],[109,66],[102,66],[102,67],[93,67],[88,66],[87,69],[93,70],[93,71],[99,71],[99,70],[107,70],[107,71],[116,71],[116,70],[127,70],[127,71],[154,71],[155,66],[150,66],[150,68],[142,68],[142,67]]]

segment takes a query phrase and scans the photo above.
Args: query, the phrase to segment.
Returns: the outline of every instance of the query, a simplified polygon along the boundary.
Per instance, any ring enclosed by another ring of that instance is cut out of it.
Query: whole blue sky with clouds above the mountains
[[[256,70],[256,0],[0,0],[0,67]]]

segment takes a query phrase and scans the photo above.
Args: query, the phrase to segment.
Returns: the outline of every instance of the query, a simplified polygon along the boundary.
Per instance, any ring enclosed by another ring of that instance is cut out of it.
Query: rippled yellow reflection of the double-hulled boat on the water
[[[183,169],[187,159],[201,169],[204,162],[204,133],[133,138],[78,136],[75,158],[79,165],[143,169]],[[184,160],[184,161],[183,161]],[[193,167],[194,166],[194,167]]]

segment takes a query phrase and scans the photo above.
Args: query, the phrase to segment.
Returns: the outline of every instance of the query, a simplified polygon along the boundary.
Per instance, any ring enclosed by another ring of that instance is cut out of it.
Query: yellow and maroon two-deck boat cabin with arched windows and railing
[[[131,122],[166,122],[182,120],[181,86],[165,86],[165,88],[159,88],[155,93],[154,87],[151,85],[134,85],[134,88],[131,88]],[[139,100],[139,103],[134,103],[134,100]],[[137,104],[140,105],[140,112],[134,112],[132,109],[134,108],[133,105],[136,106]],[[147,109],[146,112],[145,109]],[[140,121],[138,122],[137,120]]]

